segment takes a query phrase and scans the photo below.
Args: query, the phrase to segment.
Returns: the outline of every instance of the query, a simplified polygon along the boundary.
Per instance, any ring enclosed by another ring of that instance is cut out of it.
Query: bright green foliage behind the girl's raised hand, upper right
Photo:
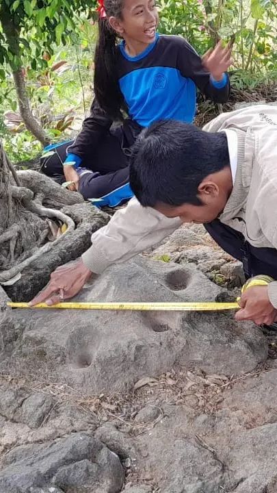
[[[160,31],[181,34],[204,54],[232,41],[235,68],[277,69],[276,0],[159,0]]]

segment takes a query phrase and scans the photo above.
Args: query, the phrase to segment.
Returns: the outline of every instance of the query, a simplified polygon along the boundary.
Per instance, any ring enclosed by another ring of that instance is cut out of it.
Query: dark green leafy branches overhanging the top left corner
[[[43,53],[53,55],[56,46],[66,46],[85,12],[94,15],[96,0],[3,0],[0,7],[0,65],[12,70],[31,65],[43,69]],[[13,41],[11,38],[14,38]],[[0,71],[0,77],[5,73]]]

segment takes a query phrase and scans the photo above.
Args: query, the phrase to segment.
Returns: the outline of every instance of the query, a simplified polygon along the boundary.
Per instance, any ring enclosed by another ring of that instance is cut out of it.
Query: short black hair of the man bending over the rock
[[[201,181],[229,165],[225,132],[159,121],[144,129],[133,145],[130,186],[144,207],[201,205],[197,197]]]

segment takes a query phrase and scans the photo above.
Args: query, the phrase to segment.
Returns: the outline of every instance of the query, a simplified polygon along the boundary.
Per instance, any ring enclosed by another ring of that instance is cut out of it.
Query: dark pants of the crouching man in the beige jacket
[[[242,262],[246,279],[259,274],[277,279],[276,249],[252,247],[241,233],[220,223],[218,219],[204,226],[224,251]]]

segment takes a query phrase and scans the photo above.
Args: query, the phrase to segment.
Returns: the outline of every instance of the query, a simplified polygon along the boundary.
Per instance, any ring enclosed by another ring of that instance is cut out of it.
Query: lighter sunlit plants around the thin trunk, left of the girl
[[[92,60],[96,26],[81,15],[64,47],[53,45],[54,54],[43,52],[42,68],[37,58],[36,69],[27,64],[24,73],[31,108],[51,141],[70,138],[79,129],[92,100]],[[83,89],[83,90],[82,90]],[[41,151],[18,113],[18,101],[10,71],[0,86],[0,138],[14,162],[36,157]],[[10,110],[15,114],[10,114]],[[4,123],[5,122],[5,123]],[[8,125],[8,127],[7,127]]]

